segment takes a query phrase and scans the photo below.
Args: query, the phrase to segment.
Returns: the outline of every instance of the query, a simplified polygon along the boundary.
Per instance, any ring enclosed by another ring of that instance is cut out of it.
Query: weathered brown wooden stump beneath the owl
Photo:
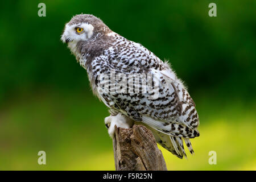
[[[134,125],[131,129],[115,126],[113,150],[117,171],[167,170],[154,135],[146,126]]]

